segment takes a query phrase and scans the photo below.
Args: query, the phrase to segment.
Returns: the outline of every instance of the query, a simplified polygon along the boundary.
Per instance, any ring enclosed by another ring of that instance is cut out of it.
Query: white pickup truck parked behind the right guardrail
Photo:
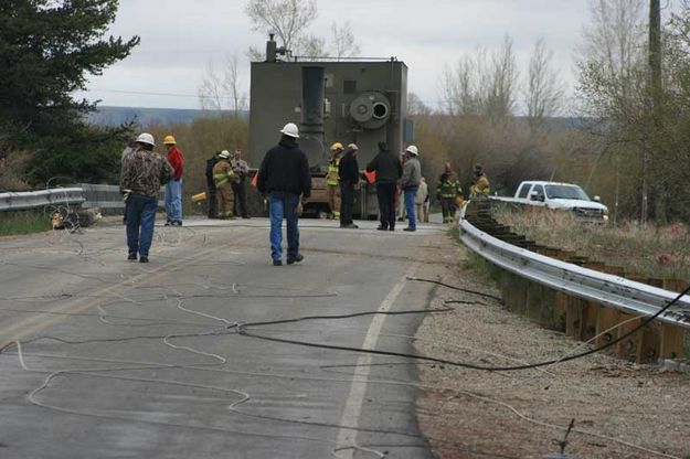
[[[608,207],[599,202],[599,196],[594,196],[591,200],[582,188],[572,183],[527,181],[520,183],[514,198],[491,198],[520,204],[572,211],[576,216],[587,220],[604,222],[608,220]]]

